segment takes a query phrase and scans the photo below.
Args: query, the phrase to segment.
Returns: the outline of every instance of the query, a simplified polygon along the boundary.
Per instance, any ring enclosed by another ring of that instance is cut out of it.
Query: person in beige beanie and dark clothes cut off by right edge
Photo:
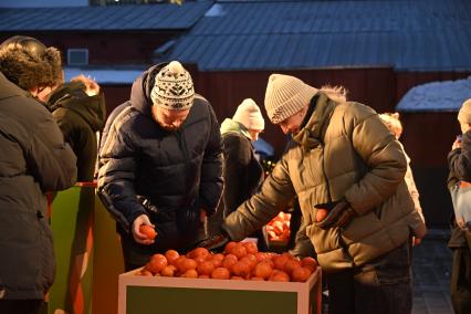
[[[457,138],[448,154],[450,175],[448,188],[459,181],[471,182],[471,98],[458,114],[462,138]],[[453,250],[451,269],[451,303],[454,313],[471,313],[471,233],[461,229],[452,217],[452,232],[448,247]]]

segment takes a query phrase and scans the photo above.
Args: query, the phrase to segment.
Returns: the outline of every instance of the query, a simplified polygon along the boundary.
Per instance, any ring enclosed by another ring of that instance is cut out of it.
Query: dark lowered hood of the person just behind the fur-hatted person
[[[65,83],[51,93],[45,105],[51,113],[60,108],[73,111],[93,132],[102,130],[106,118],[104,95],[88,96],[85,88],[82,82]]]

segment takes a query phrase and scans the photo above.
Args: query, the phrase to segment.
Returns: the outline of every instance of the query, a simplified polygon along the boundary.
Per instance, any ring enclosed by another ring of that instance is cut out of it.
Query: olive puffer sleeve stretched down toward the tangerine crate
[[[294,197],[287,163],[282,158],[263,181],[261,190],[224,219],[222,229],[231,240],[240,241],[286,209]]]

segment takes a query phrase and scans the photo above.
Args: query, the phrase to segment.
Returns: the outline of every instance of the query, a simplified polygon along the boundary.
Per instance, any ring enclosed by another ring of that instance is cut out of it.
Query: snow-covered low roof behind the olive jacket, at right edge
[[[432,82],[412,87],[400,100],[398,112],[458,112],[471,98],[471,76],[465,80]]]

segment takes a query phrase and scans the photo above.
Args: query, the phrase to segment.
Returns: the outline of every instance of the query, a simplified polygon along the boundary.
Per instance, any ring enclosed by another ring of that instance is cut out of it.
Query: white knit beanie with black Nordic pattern
[[[160,70],[150,93],[154,105],[170,111],[189,109],[193,97],[191,76],[178,61],[172,61]]]

